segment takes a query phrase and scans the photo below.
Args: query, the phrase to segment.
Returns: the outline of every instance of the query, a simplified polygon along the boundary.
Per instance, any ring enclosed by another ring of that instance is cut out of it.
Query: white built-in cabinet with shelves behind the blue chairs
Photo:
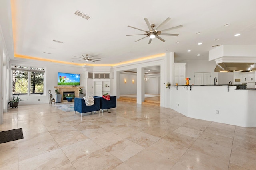
[[[94,81],[93,96],[102,96],[105,93],[110,94],[110,81]]]

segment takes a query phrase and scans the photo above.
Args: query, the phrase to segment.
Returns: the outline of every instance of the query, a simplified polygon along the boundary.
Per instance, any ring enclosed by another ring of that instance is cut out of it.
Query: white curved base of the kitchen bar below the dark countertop
[[[235,85],[170,86],[170,108],[191,118],[256,127],[256,90]]]

